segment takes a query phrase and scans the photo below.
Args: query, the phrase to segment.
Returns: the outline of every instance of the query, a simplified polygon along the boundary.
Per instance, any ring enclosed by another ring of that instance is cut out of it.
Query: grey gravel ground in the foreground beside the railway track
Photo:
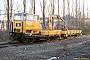
[[[56,42],[0,48],[0,60],[72,60],[90,58],[90,35]]]

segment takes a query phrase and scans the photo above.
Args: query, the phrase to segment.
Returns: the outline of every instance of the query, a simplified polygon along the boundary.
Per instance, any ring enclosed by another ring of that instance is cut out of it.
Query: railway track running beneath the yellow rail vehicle
[[[75,37],[68,37],[67,39],[62,40],[73,40]],[[55,40],[47,40],[47,41],[35,41],[33,43],[19,43],[19,42],[13,42],[13,43],[2,43],[0,44],[0,48],[10,47],[10,46],[23,46],[23,45],[32,45],[32,44],[44,44],[44,43],[50,43],[50,42],[57,42],[61,39],[55,39]]]

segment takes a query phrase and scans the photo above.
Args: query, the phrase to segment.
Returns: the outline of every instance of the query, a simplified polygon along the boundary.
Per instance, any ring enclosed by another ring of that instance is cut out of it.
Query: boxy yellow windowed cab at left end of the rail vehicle
[[[14,14],[10,36],[22,42],[40,35],[40,18],[35,14]],[[31,40],[29,40],[31,41]]]

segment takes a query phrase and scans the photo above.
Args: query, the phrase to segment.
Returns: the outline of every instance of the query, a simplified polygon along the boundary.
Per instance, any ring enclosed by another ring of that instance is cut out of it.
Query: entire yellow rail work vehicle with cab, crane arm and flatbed
[[[62,29],[54,30],[53,18],[58,18],[63,22]],[[14,14],[10,36],[20,42],[33,42],[34,40],[47,40],[82,34],[82,30],[66,29],[64,19],[58,15],[52,14],[49,16],[48,26],[44,30],[41,29],[40,22],[40,17],[36,14]]]

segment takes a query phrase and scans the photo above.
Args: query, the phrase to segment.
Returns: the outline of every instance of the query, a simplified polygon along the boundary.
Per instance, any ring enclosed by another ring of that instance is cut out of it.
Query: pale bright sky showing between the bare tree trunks
[[[7,1],[7,0],[0,0],[0,10],[5,10],[4,7],[7,6],[5,1]],[[31,0],[27,0],[27,5],[26,5],[27,6],[27,13],[31,13],[32,14],[33,12],[30,11],[30,9],[31,9],[30,1]],[[42,1],[42,0],[36,0],[36,14],[39,14],[40,16],[42,16],[40,1]],[[46,16],[48,16],[50,14],[50,12],[48,12],[48,11],[51,10],[50,6],[48,6],[50,4],[49,3],[50,0],[45,0],[45,1],[47,1],[46,10],[45,10],[46,11]],[[63,9],[62,9],[63,8],[62,7],[63,6],[62,5],[63,0],[59,0],[59,1],[60,1],[59,2],[60,3],[60,5],[59,5],[60,13],[59,14],[62,16],[63,15],[62,14],[63,13]],[[72,8],[75,9],[75,1],[76,0],[70,0],[70,12],[72,12]],[[77,1],[79,1],[79,0],[77,0]],[[80,0],[80,6],[81,7],[83,6],[83,2],[82,1],[83,0]],[[57,4],[57,2],[58,2],[58,0],[55,0],[55,14],[58,14],[58,4]],[[84,6],[85,13],[87,13],[87,6],[88,6],[88,11],[90,12],[90,0],[85,0],[84,3],[85,3],[85,6]],[[65,6],[66,6],[66,8],[65,8],[65,15],[67,15],[68,14],[68,8],[67,8],[68,5],[67,5],[67,3],[65,3]],[[82,8],[80,10],[82,12]],[[13,0],[13,13],[15,13],[17,11],[18,12],[23,12],[23,0]],[[3,13],[3,12],[4,11],[1,11],[0,13]]]

